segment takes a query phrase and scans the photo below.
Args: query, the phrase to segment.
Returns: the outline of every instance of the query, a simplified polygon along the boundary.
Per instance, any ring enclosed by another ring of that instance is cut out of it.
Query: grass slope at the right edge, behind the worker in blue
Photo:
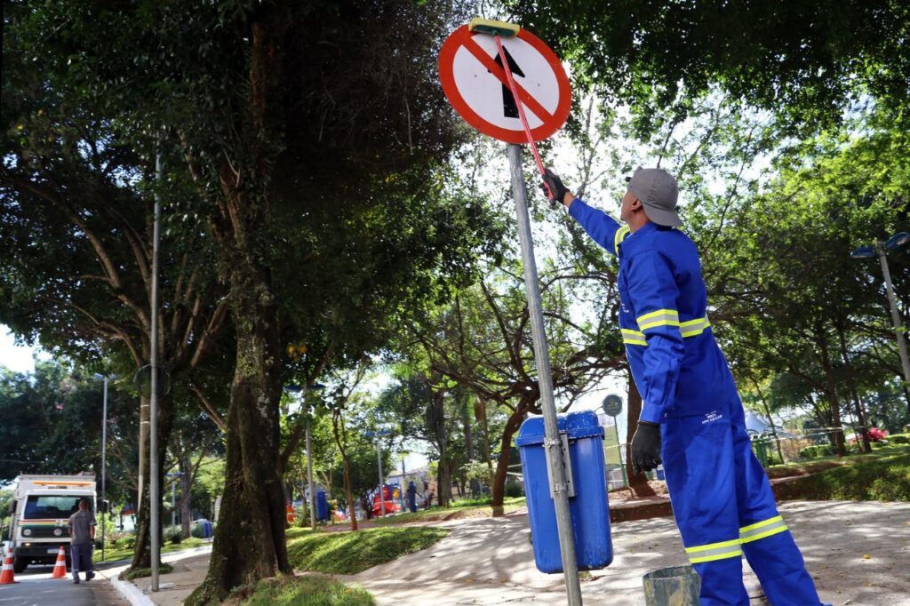
[[[910,446],[886,446],[867,455],[811,461],[799,467],[816,472],[776,486],[778,498],[910,500]]]

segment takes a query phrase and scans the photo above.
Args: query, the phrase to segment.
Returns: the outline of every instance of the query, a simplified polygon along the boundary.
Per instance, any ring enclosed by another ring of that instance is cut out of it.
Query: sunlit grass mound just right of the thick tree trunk
[[[430,547],[447,537],[441,528],[372,528],[358,532],[288,529],[288,559],[298,571],[357,574]],[[326,602],[334,603],[334,602]]]

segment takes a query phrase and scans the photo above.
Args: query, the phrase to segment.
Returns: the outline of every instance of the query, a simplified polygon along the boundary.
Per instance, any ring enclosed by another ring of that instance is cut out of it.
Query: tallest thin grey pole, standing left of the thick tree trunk
[[[155,176],[160,185],[164,178],[164,169],[161,164],[161,152],[155,156]],[[161,222],[161,196],[155,193],[155,217],[152,227],[152,393],[150,398],[149,415],[149,444],[148,444],[148,504],[151,513],[149,537],[152,543],[152,591],[158,591],[158,558],[161,545],[158,534],[158,514],[161,509],[160,486],[158,484],[158,228]]]

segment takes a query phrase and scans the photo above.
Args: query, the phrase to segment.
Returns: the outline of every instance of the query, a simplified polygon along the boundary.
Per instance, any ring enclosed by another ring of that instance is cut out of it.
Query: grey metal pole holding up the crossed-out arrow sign
[[[556,506],[556,525],[560,536],[562,574],[566,582],[566,593],[570,606],[581,605],[581,583],[578,564],[575,559],[575,539],[569,510],[569,491],[565,468],[562,462],[561,439],[556,419],[556,402],[553,399],[553,379],[550,369],[550,353],[543,328],[541,287],[537,278],[537,262],[534,260],[534,241],[531,237],[531,217],[528,215],[528,201],[521,171],[521,146],[509,144],[512,193],[518,216],[518,235],[521,240],[521,264],[524,266],[524,284],[528,292],[528,310],[531,314],[531,333],[534,337],[534,360],[537,365],[537,380],[541,388],[541,410],[543,412],[544,448],[549,450],[550,482],[553,501]]]

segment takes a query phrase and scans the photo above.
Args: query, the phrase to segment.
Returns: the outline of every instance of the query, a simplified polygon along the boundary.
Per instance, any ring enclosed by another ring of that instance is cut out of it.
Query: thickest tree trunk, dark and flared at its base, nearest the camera
[[[227,411],[225,492],[206,580],[187,604],[222,600],[239,585],[291,572],[285,544],[278,399],[278,312],[256,244],[236,232],[231,258],[237,366]]]

